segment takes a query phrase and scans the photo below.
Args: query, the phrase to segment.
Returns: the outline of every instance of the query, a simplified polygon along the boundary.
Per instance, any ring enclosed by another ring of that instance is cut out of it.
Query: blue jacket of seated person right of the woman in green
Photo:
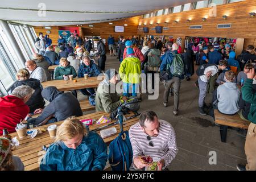
[[[84,77],[84,74],[88,74],[88,77],[98,76],[100,75],[100,69],[98,66],[93,63],[93,60],[90,60],[90,65],[86,66],[84,63],[82,63],[79,67],[78,77],[82,78]]]

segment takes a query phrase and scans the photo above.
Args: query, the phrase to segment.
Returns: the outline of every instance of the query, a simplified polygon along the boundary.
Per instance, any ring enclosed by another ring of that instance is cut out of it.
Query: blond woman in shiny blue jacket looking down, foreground
[[[79,119],[66,119],[57,127],[55,143],[40,162],[40,171],[102,171],[108,160],[107,146]]]

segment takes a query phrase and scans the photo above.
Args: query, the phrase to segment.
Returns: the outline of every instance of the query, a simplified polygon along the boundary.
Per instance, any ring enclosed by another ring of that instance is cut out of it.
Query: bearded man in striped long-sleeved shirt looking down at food
[[[130,170],[144,170],[148,164],[140,156],[151,156],[158,162],[158,170],[168,170],[177,154],[176,135],[170,123],[158,119],[154,111],[139,116],[139,122],[130,127],[129,137],[133,147],[133,164]]]

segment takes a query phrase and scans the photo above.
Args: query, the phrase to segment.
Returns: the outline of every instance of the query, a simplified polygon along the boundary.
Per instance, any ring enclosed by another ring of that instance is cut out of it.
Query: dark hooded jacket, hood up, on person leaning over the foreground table
[[[29,123],[39,125],[50,115],[53,115],[57,121],[62,121],[73,115],[76,117],[82,115],[79,101],[70,92],[62,93],[55,86],[48,86],[43,89],[42,96],[50,103],[44,108],[39,117],[28,118]]]

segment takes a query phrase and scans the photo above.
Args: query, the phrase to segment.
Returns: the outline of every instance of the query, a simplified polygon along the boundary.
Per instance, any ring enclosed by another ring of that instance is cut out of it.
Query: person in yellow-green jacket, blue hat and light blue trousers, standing
[[[122,61],[119,75],[123,81],[123,96],[137,97],[139,77],[141,75],[141,61],[134,56],[133,48],[126,49],[127,57]]]

